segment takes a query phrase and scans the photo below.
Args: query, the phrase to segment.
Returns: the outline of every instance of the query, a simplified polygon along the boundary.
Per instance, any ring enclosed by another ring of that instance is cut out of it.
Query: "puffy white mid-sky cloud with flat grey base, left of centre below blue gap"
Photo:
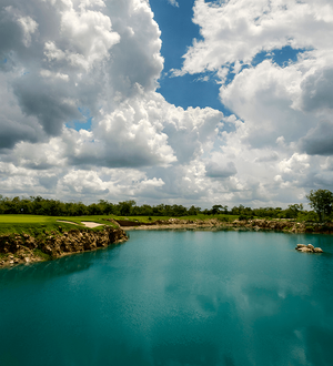
[[[68,131],[67,154],[71,164],[119,167],[176,161],[160,121],[150,115],[158,111],[159,103],[151,101],[150,108],[145,103],[141,98],[121,103],[114,112],[104,114],[92,132]]]

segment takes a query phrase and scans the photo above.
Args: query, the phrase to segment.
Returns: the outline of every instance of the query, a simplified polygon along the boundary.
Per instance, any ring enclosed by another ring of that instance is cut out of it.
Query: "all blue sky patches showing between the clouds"
[[[200,27],[192,21],[194,0],[180,0],[176,4],[172,4],[168,0],[150,0],[154,20],[162,32],[161,54],[164,58],[164,69],[159,79],[160,88],[158,91],[169,103],[176,106],[182,106],[183,109],[189,106],[210,106],[223,112],[224,115],[230,115],[232,111],[223,105],[220,100],[219,90],[221,82],[215,72],[186,73],[182,77],[172,74],[172,70],[182,68],[183,55],[192,45],[193,40],[203,40],[200,34]],[[295,62],[297,55],[304,51],[305,49],[293,49],[290,45],[271,51],[262,51],[253,58],[251,64],[255,67],[268,59],[283,68],[290,62]],[[233,65],[234,63],[231,63],[230,68],[232,69]],[[244,65],[244,68],[249,68],[249,65]],[[225,83],[230,83],[235,73],[230,70]],[[68,123],[68,126],[78,131],[80,129],[90,130],[92,116],[89,109],[79,108],[78,110],[82,114],[83,121],[71,121]]]

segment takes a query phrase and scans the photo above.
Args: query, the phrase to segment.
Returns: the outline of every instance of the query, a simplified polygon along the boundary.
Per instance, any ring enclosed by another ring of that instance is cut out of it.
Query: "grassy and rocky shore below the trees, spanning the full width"
[[[72,223],[59,222],[68,220]],[[101,223],[94,228],[82,222]],[[118,223],[121,227],[118,227]],[[107,224],[107,225],[105,225]],[[113,227],[112,227],[112,226]],[[117,228],[114,228],[117,226]],[[0,215],[0,267],[49,261],[71,253],[108,246],[114,235],[127,240],[123,226],[138,230],[273,230],[291,233],[333,233],[332,223],[300,223],[290,218],[244,220],[241,215],[196,214],[179,218],[169,216],[43,216]],[[135,227],[141,226],[141,227]]]

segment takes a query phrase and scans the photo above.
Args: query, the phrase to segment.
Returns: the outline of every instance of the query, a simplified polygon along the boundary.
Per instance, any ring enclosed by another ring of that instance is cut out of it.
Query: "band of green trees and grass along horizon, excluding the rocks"
[[[114,218],[128,217],[142,222],[157,220],[168,220],[170,217],[182,217],[184,220],[209,220],[215,217],[220,221],[229,222],[234,220],[280,220],[289,218],[299,222],[331,222],[333,218],[333,193],[327,190],[311,191],[306,196],[313,211],[304,210],[302,204],[291,204],[287,209],[281,207],[259,207],[251,209],[240,204],[229,209],[226,205],[215,204],[210,210],[201,207],[184,207],[183,205],[159,204],[151,206],[137,205],[135,201],[124,201],[111,203],[100,200],[98,203],[84,205],[82,202],[61,202],[47,200],[41,196],[30,196],[29,199],[3,197],[0,195],[0,214],[13,215],[0,221],[1,225],[7,220],[8,224],[32,224],[52,225],[57,220],[72,221],[82,225],[82,221],[94,221],[101,224],[113,225],[112,221],[105,216]],[[20,214],[20,215],[18,215]],[[46,217],[48,216],[48,217]],[[21,218],[20,218],[21,217]],[[27,218],[28,217],[28,218]],[[44,217],[44,218],[42,218]],[[0,228],[1,232],[1,228]]]

